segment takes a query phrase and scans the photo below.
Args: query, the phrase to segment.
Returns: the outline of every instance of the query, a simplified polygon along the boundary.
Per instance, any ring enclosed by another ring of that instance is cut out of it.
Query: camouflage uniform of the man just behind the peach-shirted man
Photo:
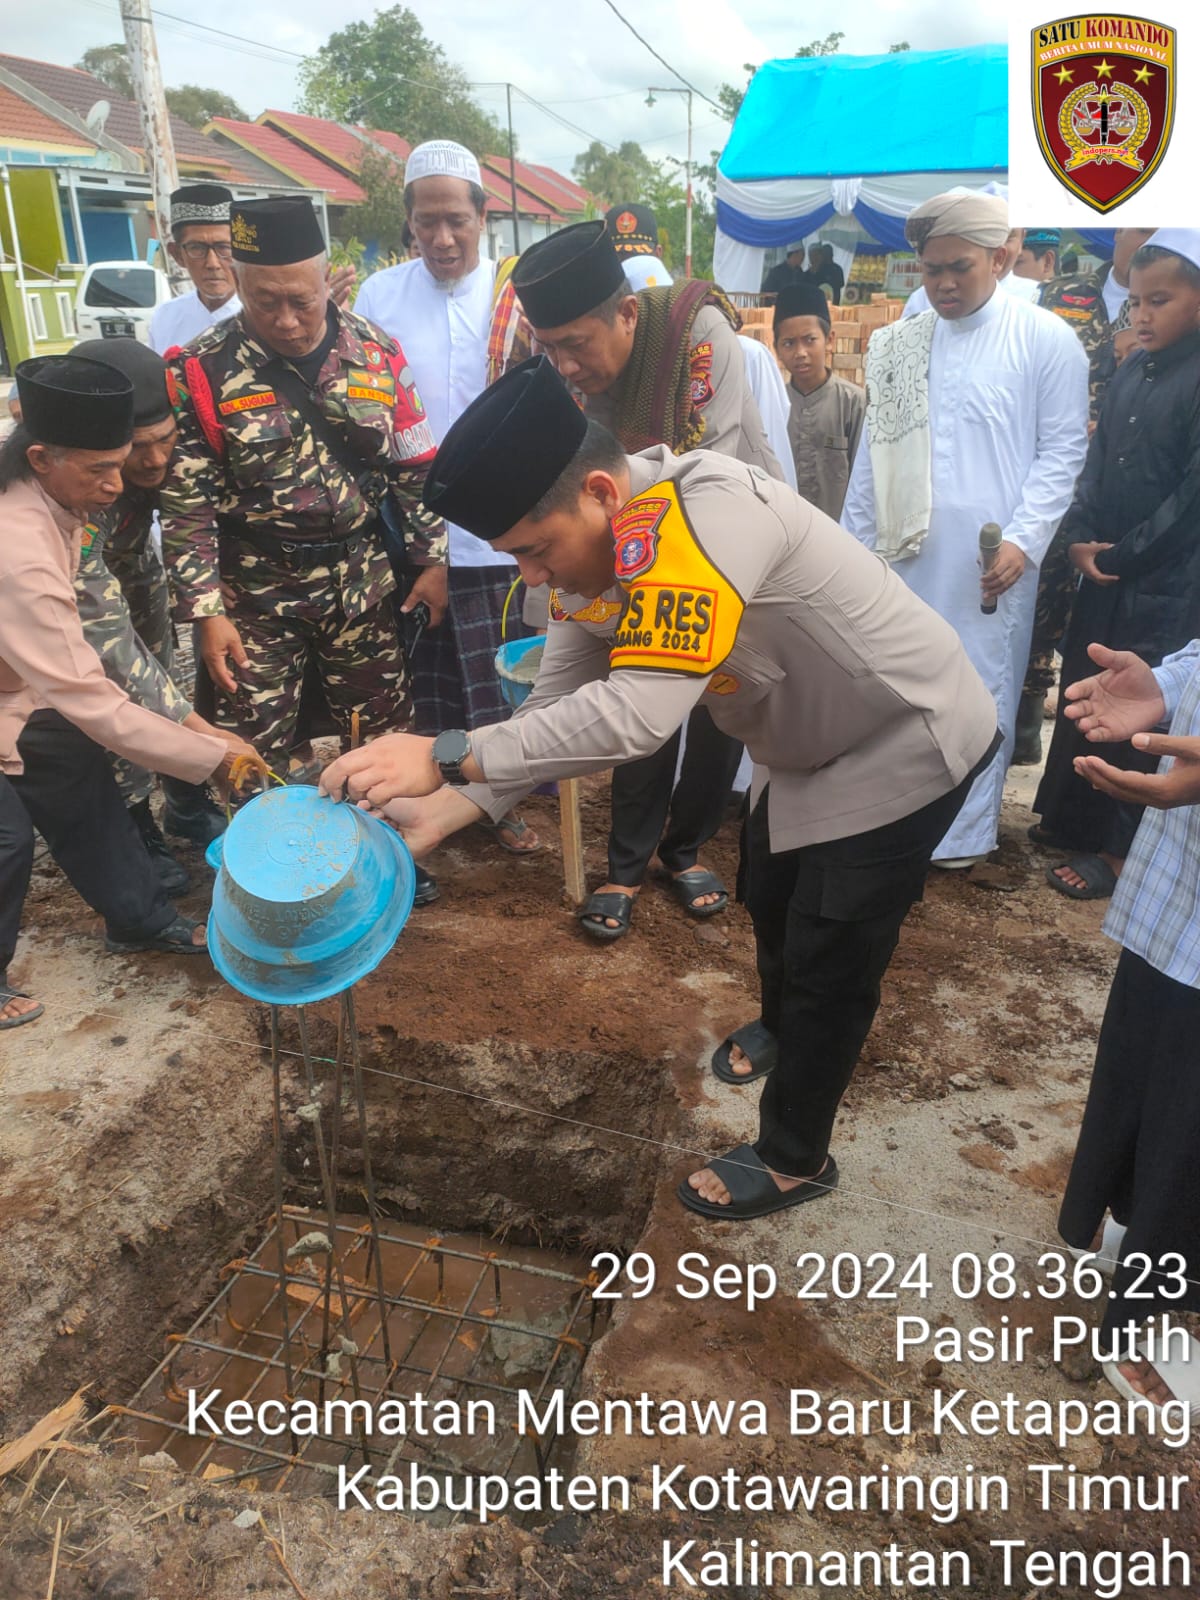
[[[168,672],[171,659],[170,618],[157,640],[166,656],[163,661],[160,650],[154,650],[136,626],[122,584],[107,562],[112,530],[122,526],[122,514],[125,512],[128,507],[125,496],[122,496],[114,507],[102,512],[83,530],[80,563],[75,573],[75,603],[83,624],[83,637],[101,658],[107,677],[118,683],[131,701],[146,706],[147,710],[158,712],[162,717],[170,717],[173,722],[182,722],[192,714],[192,706],[179,693]],[[149,517],[146,528],[149,530]],[[152,546],[149,546],[149,554],[154,555]],[[149,566],[149,563],[142,565]],[[157,595],[165,602],[166,586],[157,557],[154,557],[154,565],[158,570],[158,579],[155,581],[147,570],[147,581],[136,594]],[[150,798],[154,778],[146,768],[134,766],[123,755],[109,755],[109,760],[126,806]]]

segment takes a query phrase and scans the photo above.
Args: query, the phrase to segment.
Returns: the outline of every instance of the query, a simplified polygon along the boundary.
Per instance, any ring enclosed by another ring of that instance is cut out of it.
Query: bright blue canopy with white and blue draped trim
[[[754,291],[765,251],[835,218],[853,218],[875,248],[906,250],[904,219],[922,200],[1006,174],[1003,45],[768,61],[717,168],[715,275]]]

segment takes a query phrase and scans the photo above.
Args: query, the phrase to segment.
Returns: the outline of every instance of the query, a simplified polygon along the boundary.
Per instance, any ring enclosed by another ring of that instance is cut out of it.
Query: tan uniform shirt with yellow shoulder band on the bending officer
[[[763,472],[659,446],[629,458],[622,581],[558,595],[533,694],[472,747],[493,816],[536,784],[650,755],[704,696],[770,781],[771,848],[845,838],[954,789],[995,706],[954,629]],[[654,507],[672,491],[685,518]],[[651,491],[650,494],[646,491]],[[650,502],[650,504],[646,504]]]

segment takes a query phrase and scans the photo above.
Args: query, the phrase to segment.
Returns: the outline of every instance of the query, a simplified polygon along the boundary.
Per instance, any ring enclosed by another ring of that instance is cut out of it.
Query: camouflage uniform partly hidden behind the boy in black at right
[[[1050,278],[1038,296],[1040,306],[1070,323],[1086,352],[1091,422],[1099,416],[1104,387],[1115,371],[1112,336],[1130,326],[1128,301],[1117,320],[1109,322],[1104,282],[1110,270],[1112,264],[1101,267],[1099,272],[1072,272]],[[1077,581],[1078,573],[1067,560],[1067,547],[1056,534],[1042,558],[1024,694],[1045,696],[1054,686],[1054,651],[1067,630]]]

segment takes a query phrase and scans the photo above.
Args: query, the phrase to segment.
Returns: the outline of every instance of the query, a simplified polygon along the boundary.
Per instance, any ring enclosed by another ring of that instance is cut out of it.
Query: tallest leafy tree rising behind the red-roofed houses
[[[456,139],[477,155],[507,154],[509,136],[474,101],[466,74],[395,5],[371,22],[350,22],[301,62],[299,109],[358,122],[411,144]]]

